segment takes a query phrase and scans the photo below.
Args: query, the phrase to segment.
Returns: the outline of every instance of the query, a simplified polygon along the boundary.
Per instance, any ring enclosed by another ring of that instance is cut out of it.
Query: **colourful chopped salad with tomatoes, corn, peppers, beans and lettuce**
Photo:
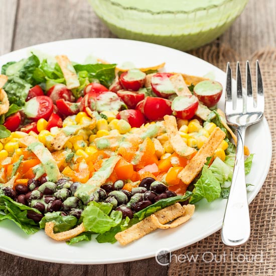
[[[227,198],[235,134],[222,85],[32,54],[0,75],[0,221],[69,244],[122,244]],[[253,155],[245,147],[245,170]]]

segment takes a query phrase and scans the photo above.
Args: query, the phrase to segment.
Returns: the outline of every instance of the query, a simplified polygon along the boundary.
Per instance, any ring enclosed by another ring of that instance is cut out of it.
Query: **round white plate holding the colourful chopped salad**
[[[88,55],[111,63],[131,61],[137,67],[166,62],[167,72],[199,76],[212,72],[217,81],[225,84],[225,73],[206,61],[164,46],[122,39],[75,39],[41,44],[0,57],[0,67],[8,61],[26,57],[32,49],[50,55],[65,54],[76,62],[83,62]],[[222,108],[224,95],[221,98],[219,106]],[[271,161],[271,135],[266,119],[248,128],[245,143],[255,154],[251,173],[246,177],[246,183],[254,185],[248,192],[251,202],[265,180]],[[225,205],[224,199],[212,203],[201,200],[194,216],[185,225],[157,230],[127,246],[120,246],[118,242],[97,243],[96,240],[69,246],[48,238],[44,231],[27,236],[13,222],[3,221],[0,223],[0,249],[22,257],[60,263],[101,264],[143,259],[155,256],[162,248],[176,250],[216,232],[221,228]]]

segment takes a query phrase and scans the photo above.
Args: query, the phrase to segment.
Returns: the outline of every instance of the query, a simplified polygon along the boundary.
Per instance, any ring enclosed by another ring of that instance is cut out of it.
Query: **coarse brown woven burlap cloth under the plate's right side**
[[[226,62],[239,60],[237,53],[225,46],[219,51],[215,43],[191,54],[225,70]],[[265,117],[272,135],[272,161],[265,183],[249,206],[251,218],[250,240],[243,246],[229,248],[220,237],[220,231],[185,248],[173,252],[176,255],[198,255],[196,261],[172,261],[169,275],[276,275],[276,49],[264,49],[253,54],[249,60],[260,62],[265,88]],[[241,62],[244,76],[244,64]],[[252,67],[253,69],[253,67]],[[252,70],[254,72],[254,70]],[[261,145],[259,145],[261,147]],[[185,238],[185,237],[183,237]],[[204,254],[205,253],[205,254]]]

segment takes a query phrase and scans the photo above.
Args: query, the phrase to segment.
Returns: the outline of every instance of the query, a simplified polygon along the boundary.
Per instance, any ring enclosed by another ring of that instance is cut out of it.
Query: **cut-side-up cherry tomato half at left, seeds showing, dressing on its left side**
[[[37,96],[26,102],[24,112],[26,116],[33,120],[44,118],[49,119],[54,110],[51,98],[47,96]]]

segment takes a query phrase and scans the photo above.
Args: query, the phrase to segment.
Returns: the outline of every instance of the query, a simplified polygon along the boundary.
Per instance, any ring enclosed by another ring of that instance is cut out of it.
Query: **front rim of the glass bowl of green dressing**
[[[125,11],[136,11],[136,12],[141,12],[141,13],[148,13],[148,14],[152,14],[152,15],[163,15],[163,14],[192,14],[192,13],[195,13],[195,12],[199,12],[199,11],[208,11],[208,10],[211,10],[211,9],[215,9],[215,8],[219,8],[219,7],[222,7],[224,6],[225,4],[228,4],[228,3],[231,3],[231,2],[234,2],[236,0],[224,0],[222,3],[220,4],[212,4],[212,5],[209,5],[205,8],[196,8],[194,10],[191,10],[191,11],[160,11],[160,12],[153,12],[151,10],[147,10],[147,9],[139,9],[139,8],[134,8],[134,7],[124,7],[122,4],[119,4],[117,2],[114,2],[113,0],[103,0],[105,2],[109,2],[111,5],[113,6],[116,6],[118,8],[121,8]],[[89,1],[92,5],[93,3],[93,0]],[[248,0],[244,0],[244,2],[248,2]],[[92,5],[93,6],[93,5]]]

